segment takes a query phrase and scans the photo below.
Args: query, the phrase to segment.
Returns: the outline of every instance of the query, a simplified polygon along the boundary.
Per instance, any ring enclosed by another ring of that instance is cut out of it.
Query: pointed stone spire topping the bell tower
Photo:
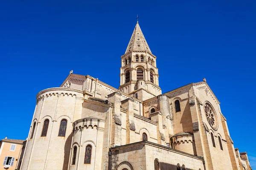
[[[139,21],[137,21],[137,24],[134,28],[134,31],[131,35],[131,40],[128,44],[128,47],[125,51],[125,53],[131,51],[131,50],[147,50],[151,52],[149,49],[148,43],[140,29]]]

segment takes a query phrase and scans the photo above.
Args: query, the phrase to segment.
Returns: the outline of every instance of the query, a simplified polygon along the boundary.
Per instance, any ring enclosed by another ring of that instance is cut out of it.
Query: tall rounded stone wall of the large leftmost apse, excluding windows
[[[75,115],[81,115],[82,102],[83,93],[78,90],[51,88],[38,94],[21,170],[50,170],[52,167],[67,169],[72,140],[72,123]],[[46,119],[49,119],[47,136],[41,137]],[[67,120],[65,137],[58,136],[62,119]],[[34,123],[36,126],[31,139]]]

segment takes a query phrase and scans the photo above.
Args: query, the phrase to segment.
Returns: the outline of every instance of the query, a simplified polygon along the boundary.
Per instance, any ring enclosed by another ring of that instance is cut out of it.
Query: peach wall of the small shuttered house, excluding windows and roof
[[[10,150],[12,144],[16,144],[15,151]],[[1,163],[0,169],[1,170],[4,170],[3,162],[6,156],[15,158],[13,166],[10,166],[8,170],[15,170],[17,168],[18,160],[20,159],[21,148],[22,148],[22,143],[1,140],[1,143],[0,143],[0,163]]]

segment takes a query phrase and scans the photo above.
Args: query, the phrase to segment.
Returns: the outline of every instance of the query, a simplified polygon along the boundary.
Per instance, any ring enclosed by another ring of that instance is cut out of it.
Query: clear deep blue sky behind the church
[[[255,9],[255,1],[1,1],[0,138],[26,139],[36,94],[70,70],[118,88],[139,14],[163,93],[205,77],[235,147],[256,168]]]

